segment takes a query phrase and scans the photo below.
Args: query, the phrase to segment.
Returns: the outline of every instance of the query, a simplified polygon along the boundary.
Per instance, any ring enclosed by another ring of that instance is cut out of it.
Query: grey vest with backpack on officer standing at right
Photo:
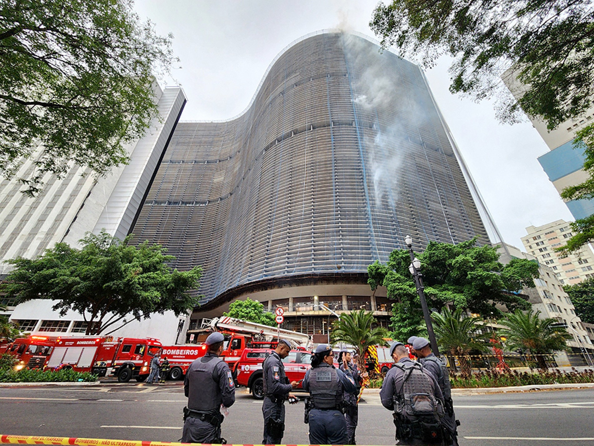
[[[431,387],[431,378],[425,375],[419,363],[396,364],[394,367],[403,370],[402,389],[394,395],[394,412],[409,420],[439,419],[443,407],[435,398]]]

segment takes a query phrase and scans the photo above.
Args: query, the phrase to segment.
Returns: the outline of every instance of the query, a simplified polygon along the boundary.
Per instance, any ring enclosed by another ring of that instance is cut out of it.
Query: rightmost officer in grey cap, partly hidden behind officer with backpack
[[[443,425],[450,434],[450,444],[458,446],[457,426],[460,422],[456,420],[454,413],[454,402],[451,399],[451,383],[450,372],[440,358],[435,356],[431,351],[429,341],[425,338],[416,338],[413,341],[412,348],[419,362],[428,370],[437,381],[444,396],[445,416],[443,417]]]

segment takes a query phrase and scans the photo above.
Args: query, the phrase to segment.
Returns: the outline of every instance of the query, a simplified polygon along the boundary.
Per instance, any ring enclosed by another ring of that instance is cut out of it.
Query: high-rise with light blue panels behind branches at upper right
[[[505,71],[501,78],[515,98],[522,97],[525,87],[517,81],[513,68]],[[588,109],[579,118],[561,123],[554,130],[548,130],[545,121],[530,118],[532,126],[550,150],[539,156],[538,162],[559,193],[566,187],[576,186],[590,178],[590,175],[583,170],[586,157],[582,150],[574,149],[573,142],[577,131],[592,124],[593,118],[594,107]],[[594,213],[594,200],[570,200],[565,202],[565,205],[575,219],[586,218]]]

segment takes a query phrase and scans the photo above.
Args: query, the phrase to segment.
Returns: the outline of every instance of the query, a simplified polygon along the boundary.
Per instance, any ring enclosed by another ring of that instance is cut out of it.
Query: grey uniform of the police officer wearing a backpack
[[[405,368],[405,370],[401,369],[399,366]],[[388,410],[394,410],[394,419],[396,420],[398,418],[398,422],[404,425],[405,430],[410,429],[411,436],[405,436],[402,435],[402,432],[399,432],[399,429],[397,428],[396,439],[399,440],[399,445],[427,444],[427,442],[422,438],[420,427],[416,424],[413,426],[411,424],[412,422],[416,422],[415,417],[406,415],[403,417],[403,419],[400,419],[396,416],[397,407],[394,407],[394,400],[396,400],[399,395],[402,396],[404,394],[405,378],[407,378],[410,368],[414,366],[421,369],[422,375],[424,376],[421,376],[421,378],[423,378],[422,382],[409,382],[409,385],[412,384],[413,386],[417,386],[415,392],[433,395],[435,398],[437,398],[439,401],[438,404],[441,404],[443,409],[443,395],[441,394],[440,387],[438,386],[437,381],[435,381],[434,376],[422,368],[422,366],[416,365],[416,363],[409,358],[404,357],[400,359],[393,368],[388,370],[380,391],[381,404],[383,404],[383,406]],[[443,413],[440,415],[443,415]],[[437,444],[443,445],[444,443],[441,442]]]

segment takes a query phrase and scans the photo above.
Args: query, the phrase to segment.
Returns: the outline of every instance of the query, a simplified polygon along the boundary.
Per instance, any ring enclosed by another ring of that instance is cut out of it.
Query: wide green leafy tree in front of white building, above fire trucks
[[[172,310],[178,316],[195,307],[200,296],[186,291],[198,287],[201,268],[172,270],[167,263],[175,257],[165,255],[162,246],[146,241],[131,246],[131,238],[89,233],[81,249],[56,243],[37,259],[7,260],[15,269],[1,289],[19,303],[57,300],[53,309],[62,316],[69,310],[83,316],[87,335],[113,332],[153,313]]]

